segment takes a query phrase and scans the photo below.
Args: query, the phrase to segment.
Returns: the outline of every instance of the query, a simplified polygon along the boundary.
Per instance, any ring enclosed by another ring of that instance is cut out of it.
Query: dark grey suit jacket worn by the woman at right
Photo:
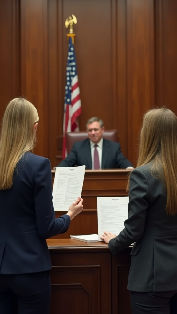
[[[177,290],[177,214],[165,212],[167,196],[150,164],[131,172],[128,219],[119,235],[109,241],[113,254],[134,243],[128,290]]]

